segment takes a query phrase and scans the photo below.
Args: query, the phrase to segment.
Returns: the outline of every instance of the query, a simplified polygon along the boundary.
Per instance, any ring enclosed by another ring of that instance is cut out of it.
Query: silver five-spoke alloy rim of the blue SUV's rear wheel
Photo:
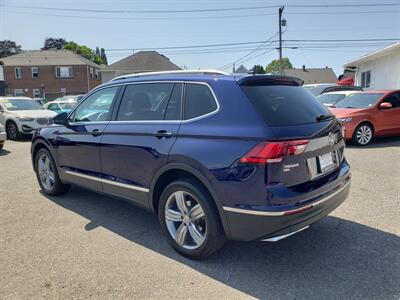
[[[207,236],[203,208],[185,191],[172,193],[165,205],[165,223],[175,242],[189,250],[199,248]]]

